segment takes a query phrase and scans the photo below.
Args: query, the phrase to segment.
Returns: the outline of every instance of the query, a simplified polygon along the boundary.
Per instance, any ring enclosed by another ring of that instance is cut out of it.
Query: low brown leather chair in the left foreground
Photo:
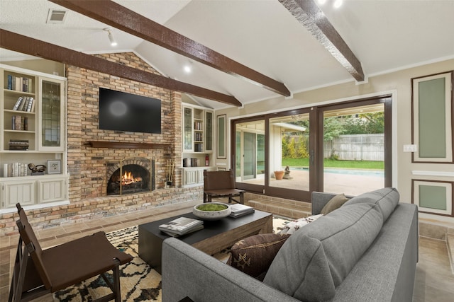
[[[133,257],[111,245],[106,233],[98,232],[41,249],[21,204],[16,204],[19,220],[19,242],[9,291],[9,302],[30,301],[67,286],[101,275],[112,290],[96,301],[121,301],[119,266]],[[113,281],[106,277],[112,270]]]

